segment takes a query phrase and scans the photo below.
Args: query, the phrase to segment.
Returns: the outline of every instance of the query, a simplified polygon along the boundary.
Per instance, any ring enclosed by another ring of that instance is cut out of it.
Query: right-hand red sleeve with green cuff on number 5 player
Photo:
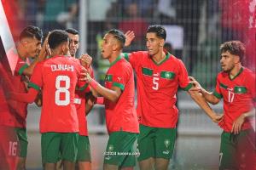
[[[189,83],[188,71],[181,59],[178,59],[178,65],[179,65],[179,71],[177,75],[178,85],[183,90],[188,91],[190,88],[192,88],[192,84]]]

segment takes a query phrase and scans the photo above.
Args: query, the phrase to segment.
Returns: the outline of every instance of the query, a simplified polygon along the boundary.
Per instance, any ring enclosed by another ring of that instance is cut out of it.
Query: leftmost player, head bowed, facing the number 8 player
[[[27,26],[20,33],[20,41],[16,44],[16,48],[11,48],[7,53],[9,58],[9,64],[14,74],[12,77],[12,83],[15,84],[15,92],[26,93],[26,82],[28,77],[32,75],[32,71],[38,61],[43,60],[45,55],[38,56],[40,50],[42,50],[43,33],[41,29],[36,26]],[[28,58],[34,58],[31,65]],[[26,115],[27,104],[17,101],[9,101],[11,105],[15,105],[12,112],[12,125],[15,127],[17,136],[19,138],[20,151],[18,169],[26,169],[26,154],[27,154],[27,134],[26,134]]]

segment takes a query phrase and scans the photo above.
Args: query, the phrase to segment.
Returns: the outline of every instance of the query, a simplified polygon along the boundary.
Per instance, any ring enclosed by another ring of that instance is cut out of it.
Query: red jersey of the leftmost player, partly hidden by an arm
[[[9,58],[17,59],[14,68],[14,76],[12,77],[12,83],[15,84],[14,91],[16,93],[26,93],[26,85],[24,80],[27,78],[25,75],[22,74],[24,69],[28,67],[28,60],[24,61],[20,59],[19,55],[15,51],[14,48],[11,48],[7,53]],[[19,102],[15,100],[9,100],[9,105],[12,105],[13,109],[10,111],[12,112],[13,116],[13,125],[12,127],[26,127],[26,116],[27,116],[27,103]]]

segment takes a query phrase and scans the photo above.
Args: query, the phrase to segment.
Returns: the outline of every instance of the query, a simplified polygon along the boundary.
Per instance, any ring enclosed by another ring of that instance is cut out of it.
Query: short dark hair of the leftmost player
[[[20,32],[20,40],[24,37],[36,37],[39,41],[42,41],[43,31],[38,28],[38,26],[26,26],[26,28]]]

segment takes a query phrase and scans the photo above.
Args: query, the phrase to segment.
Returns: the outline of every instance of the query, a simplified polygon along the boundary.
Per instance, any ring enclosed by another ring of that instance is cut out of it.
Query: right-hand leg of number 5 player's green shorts
[[[155,157],[170,160],[176,141],[176,128],[158,128],[155,136]]]

